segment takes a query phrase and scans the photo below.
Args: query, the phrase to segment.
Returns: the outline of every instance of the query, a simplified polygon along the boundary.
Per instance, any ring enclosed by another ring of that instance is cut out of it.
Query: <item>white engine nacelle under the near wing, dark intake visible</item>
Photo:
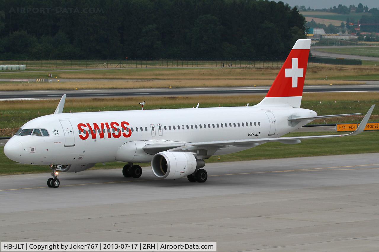
[[[151,160],[154,175],[161,179],[179,179],[204,166],[204,160],[196,159],[191,152],[162,151]]]

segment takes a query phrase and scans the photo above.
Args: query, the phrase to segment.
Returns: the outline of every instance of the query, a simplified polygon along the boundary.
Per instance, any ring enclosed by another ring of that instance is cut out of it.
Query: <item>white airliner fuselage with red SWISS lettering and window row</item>
[[[292,125],[288,121],[292,115],[311,117],[316,112],[252,106],[53,114],[22,126],[22,129],[47,129],[49,136],[15,135],[6,144],[5,151],[14,161],[33,165],[149,162],[153,156],[142,147],[150,143],[280,137],[312,121]],[[96,125],[99,129],[94,131]],[[128,132],[132,128],[133,131]],[[217,150],[214,155],[248,148],[251,146],[231,145]]]

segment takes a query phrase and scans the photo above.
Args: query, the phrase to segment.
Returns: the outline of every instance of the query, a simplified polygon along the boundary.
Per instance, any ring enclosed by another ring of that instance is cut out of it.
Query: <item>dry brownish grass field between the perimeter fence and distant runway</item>
[[[111,69],[52,72],[54,82],[0,82],[0,90],[149,88],[149,87],[226,87],[270,86],[280,66],[270,68],[163,68]],[[364,84],[376,78],[375,65],[313,65],[307,68],[305,85]],[[0,78],[36,78],[47,72],[0,73]],[[27,75],[27,76],[25,76]],[[35,76],[33,76],[35,75]],[[334,81],[326,81],[328,79]],[[45,76],[45,78],[47,78]],[[346,77],[348,76],[348,77]],[[354,76],[353,79],[349,76]],[[58,79],[123,79],[125,81],[56,82]],[[129,81],[131,80],[131,81]],[[343,80],[354,80],[352,82]]]

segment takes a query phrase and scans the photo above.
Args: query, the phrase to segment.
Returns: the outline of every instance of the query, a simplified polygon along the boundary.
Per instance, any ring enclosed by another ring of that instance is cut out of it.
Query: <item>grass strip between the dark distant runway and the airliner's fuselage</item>
[[[265,95],[231,96],[175,96],[175,97],[126,97],[67,99],[64,112],[136,110],[139,102],[147,102],[146,109],[190,108],[200,103],[200,107],[246,106],[259,103]],[[358,102],[359,101],[359,102]],[[319,115],[366,113],[372,104],[379,103],[379,93],[304,93],[302,108],[315,110]],[[0,101],[0,128],[18,128],[27,121],[42,115],[52,114],[58,100]],[[379,106],[373,112],[379,115]],[[359,122],[361,118],[331,118],[315,123]],[[379,121],[379,117],[372,120]]]

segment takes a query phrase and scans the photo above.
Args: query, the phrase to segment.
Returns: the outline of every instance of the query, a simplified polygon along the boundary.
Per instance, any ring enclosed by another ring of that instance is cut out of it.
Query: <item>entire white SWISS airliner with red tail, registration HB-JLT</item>
[[[318,119],[301,109],[310,49],[309,39],[299,39],[280,69],[266,97],[255,106],[192,109],[157,109],[62,113],[63,95],[55,113],[25,123],[5,145],[5,155],[16,162],[49,165],[49,187],[58,187],[58,171],[78,172],[96,163],[121,161],[125,177],[140,177],[150,162],[162,179],[188,177],[205,182],[204,160],[263,143],[300,143],[302,139],[342,137],[363,131],[374,105],[356,131],[345,135],[280,137]]]

